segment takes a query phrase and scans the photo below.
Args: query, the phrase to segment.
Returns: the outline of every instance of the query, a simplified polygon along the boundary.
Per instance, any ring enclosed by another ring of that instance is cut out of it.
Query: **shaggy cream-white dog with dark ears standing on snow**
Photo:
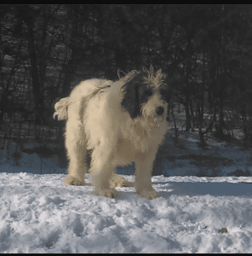
[[[66,185],[85,185],[85,158],[91,149],[89,174],[95,195],[117,197],[115,188],[130,183],[116,174],[116,167],[135,162],[136,193],[150,200],[158,197],[152,188],[152,166],[168,127],[164,78],[161,69],[155,73],[151,66],[115,82],[84,80],[55,104],[54,118],[66,119]]]

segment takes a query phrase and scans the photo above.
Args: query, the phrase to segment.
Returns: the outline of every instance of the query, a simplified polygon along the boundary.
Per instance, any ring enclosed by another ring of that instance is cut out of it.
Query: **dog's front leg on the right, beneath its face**
[[[135,160],[135,189],[136,193],[147,199],[158,197],[158,192],[152,188],[152,166],[155,154],[137,154]]]

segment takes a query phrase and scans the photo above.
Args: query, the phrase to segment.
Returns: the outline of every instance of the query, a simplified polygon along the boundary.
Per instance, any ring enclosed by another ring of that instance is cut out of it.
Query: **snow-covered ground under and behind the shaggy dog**
[[[66,186],[55,158],[22,153],[14,166],[2,151],[0,253],[252,253],[252,177],[233,176],[252,171],[251,153],[214,138],[208,150],[197,142],[197,131],[178,141],[168,134],[152,201],[134,188],[96,196],[93,187]],[[117,169],[129,181],[132,170]]]

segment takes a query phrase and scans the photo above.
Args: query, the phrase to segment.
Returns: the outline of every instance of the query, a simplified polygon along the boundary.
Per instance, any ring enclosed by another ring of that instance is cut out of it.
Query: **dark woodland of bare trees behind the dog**
[[[1,5],[0,147],[14,144],[16,159],[65,154],[54,103],[83,79],[152,64],[167,74],[175,136],[182,106],[183,128],[197,129],[200,147],[208,133],[228,140],[240,129],[250,148],[251,18],[252,6],[237,4]]]

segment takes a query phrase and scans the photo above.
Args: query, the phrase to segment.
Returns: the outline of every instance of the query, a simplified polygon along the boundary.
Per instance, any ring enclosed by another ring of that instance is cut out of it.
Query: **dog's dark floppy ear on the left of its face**
[[[135,82],[129,81],[123,85],[121,106],[129,113],[131,119],[140,116],[139,88]]]

